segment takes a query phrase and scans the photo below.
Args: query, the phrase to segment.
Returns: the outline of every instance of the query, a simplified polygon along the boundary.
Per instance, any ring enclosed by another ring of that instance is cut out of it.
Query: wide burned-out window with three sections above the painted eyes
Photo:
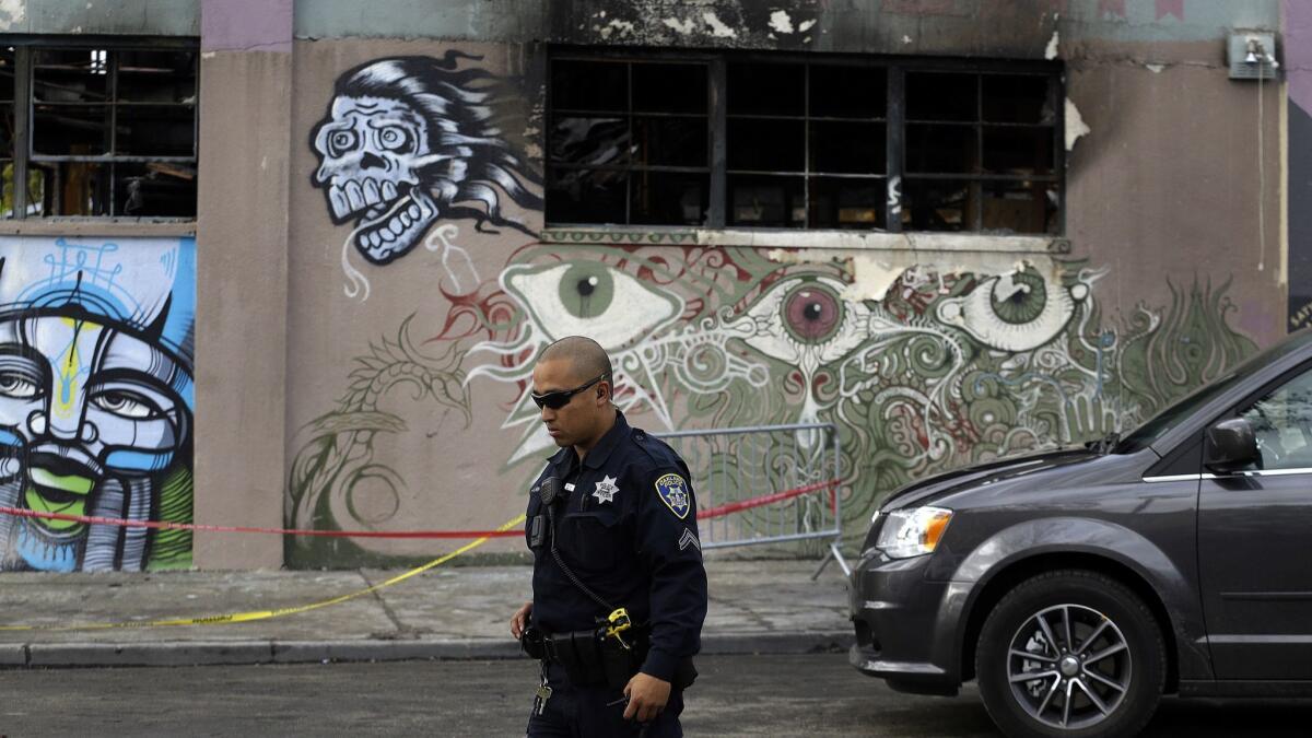
[[[1060,67],[551,62],[547,222],[1061,231]]]

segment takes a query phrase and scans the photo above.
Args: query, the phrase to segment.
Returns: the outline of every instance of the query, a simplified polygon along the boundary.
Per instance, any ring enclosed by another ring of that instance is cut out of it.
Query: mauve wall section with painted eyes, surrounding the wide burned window
[[[526,398],[533,357],[571,332],[611,351],[639,425],[838,423],[853,532],[900,483],[1126,429],[1283,335],[1281,91],[1228,80],[1224,60],[1228,29],[1278,28],[1275,3],[517,8],[298,7],[290,524],[513,517],[550,452]],[[312,137],[332,118],[333,85],[401,55],[446,60],[480,89],[500,83],[487,102],[506,116],[502,139],[523,164],[514,180],[541,193],[534,39],[1060,59],[1076,137],[1065,239],[563,230],[531,197],[495,188],[522,228],[480,232],[467,213],[438,209],[415,239],[405,223],[395,240],[358,246],[377,225],[346,215],[332,172],[314,179],[331,159]],[[398,256],[398,242],[413,246]],[[606,297],[571,292],[581,280]],[[1019,327],[991,310],[1015,294]],[[790,324],[799,299],[824,303],[828,332]],[[440,548],[307,542],[289,562],[400,562]]]

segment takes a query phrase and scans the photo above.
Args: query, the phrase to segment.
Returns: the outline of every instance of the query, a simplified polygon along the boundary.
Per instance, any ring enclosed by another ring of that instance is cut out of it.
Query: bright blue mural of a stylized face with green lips
[[[0,504],[192,520],[193,239],[0,239]],[[189,532],[0,516],[0,569],[186,567]]]

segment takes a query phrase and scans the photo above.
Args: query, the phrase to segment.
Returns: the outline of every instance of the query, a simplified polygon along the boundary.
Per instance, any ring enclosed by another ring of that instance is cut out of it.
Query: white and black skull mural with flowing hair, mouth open
[[[541,210],[542,180],[502,133],[506,116],[496,108],[502,80],[461,68],[462,60],[480,59],[454,50],[440,59],[377,59],[337,79],[310,137],[319,159],[311,181],[324,190],[332,222],[354,225],[342,251],[349,295],[367,284],[346,260],[349,244],[369,263],[388,264],[442,219],[533,235],[502,211],[502,201]],[[447,250],[450,235],[442,236]],[[443,263],[447,257],[443,251]]]

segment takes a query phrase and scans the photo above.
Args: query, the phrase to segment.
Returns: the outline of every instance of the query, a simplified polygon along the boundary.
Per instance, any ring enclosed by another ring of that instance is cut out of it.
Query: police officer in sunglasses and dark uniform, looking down
[[[706,617],[687,466],[611,403],[592,339],[547,347],[533,401],[560,450],[534,482],[525,536],[533,601],[510,633],[542,659],[537,735],[682,735],[682,689]]]

